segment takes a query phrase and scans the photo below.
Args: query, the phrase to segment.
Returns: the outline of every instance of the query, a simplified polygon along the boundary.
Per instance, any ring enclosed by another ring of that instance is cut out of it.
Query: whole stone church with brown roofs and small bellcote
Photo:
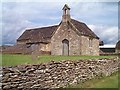
[[[72,19],[67,4],[59,25],[26,30],[17,45],[26,45],[39,54],[99,55],[99,37],[83,22]]]

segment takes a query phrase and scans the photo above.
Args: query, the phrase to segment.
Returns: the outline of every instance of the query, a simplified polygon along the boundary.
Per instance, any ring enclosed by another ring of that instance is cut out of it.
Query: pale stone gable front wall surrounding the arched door
[[[62,41],[64,39],[69,41],[69,55],[80,55],[80,36],[65,22],[59,26],[51,39],[51,54],[63,55]]]

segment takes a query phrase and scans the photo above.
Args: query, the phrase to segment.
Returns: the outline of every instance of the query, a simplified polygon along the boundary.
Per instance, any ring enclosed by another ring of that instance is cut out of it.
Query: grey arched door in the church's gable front
[[[62,55],[69,55],[69,41],[67,39],[64,39],[62,41],[63,47],[62,47]]]

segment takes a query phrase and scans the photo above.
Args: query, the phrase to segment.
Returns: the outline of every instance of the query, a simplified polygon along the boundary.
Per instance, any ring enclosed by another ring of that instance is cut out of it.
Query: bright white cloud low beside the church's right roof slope
[[[118,27],[88,25],[105,44],[116,44],[118,41]]]

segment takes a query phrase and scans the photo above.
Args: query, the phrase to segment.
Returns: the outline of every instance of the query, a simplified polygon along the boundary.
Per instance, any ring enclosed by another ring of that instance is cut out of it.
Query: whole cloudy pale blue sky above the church
[[[15,44],[16,39],[29,28],[59,24],[62,8],[68,4],[71,18],[84,22],[105,44],[118,41],[117,2],[2,2],[0,36],[2,44]]]

